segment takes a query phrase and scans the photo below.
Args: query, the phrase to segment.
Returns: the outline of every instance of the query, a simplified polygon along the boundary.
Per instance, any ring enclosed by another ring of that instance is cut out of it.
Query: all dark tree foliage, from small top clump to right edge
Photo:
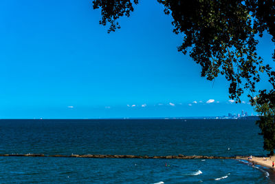
[[[267,103],[269,108],[274,107],[275,72],[270,65],[263,65],[263,59],[257,54],[259,41],[256,36],[263,37],[266,31],[275,43],[275,0],[157,1],[164,6],[165,14],[172,15],[173,32],[183,37],[179,52],[188,52],[201,65],[201,76],[210,81],[219,75],[225,76],[230,82],[230,98],[236,103],[241,102],[241,94],[248,90],[252,105],[262,107]],[[138,1],[94,0],[93,3],[94,9],[101,8],[100,24],[107,25],[109,22],[108,32],[113,32],[120,28],[118,19],[129,17]],[[273,59],[275,61],[275,52]],[[254,101],[255,85],[261,80],[261,73],[269,76],[273,88],[270,91],[259,90],[257,101]],[[262,113],[261,110],[258,112]],[[274,119],[274,114],[263,117],[262,123],[267,124],[259,123],[264,136],[265,132],[270,134],[265,128],[275,134],[275,127],[274,130],[267,127],[271,125],[268,122],[272,122],[272,116]],[[275,143],[275,139],[265,137]]]

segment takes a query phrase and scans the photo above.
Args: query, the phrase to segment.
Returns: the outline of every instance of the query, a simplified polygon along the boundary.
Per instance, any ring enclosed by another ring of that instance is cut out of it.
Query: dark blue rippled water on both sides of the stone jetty
[[[0,120],[0,154],[266,155],[254,120]],[[0,157],[0,183],[272,183],[223,159]]]

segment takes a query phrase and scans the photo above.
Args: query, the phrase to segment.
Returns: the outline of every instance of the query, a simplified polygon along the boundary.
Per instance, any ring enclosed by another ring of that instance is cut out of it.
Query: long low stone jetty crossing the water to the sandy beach
[[[186,156],[168,155],[168,156],[136,156],[136,155],[117,155],[117,154],[0,154],[0,156],[30,156],[30,157],[68,157],[68,158],[96,158],[96,159],[246,159],[248,156]]]

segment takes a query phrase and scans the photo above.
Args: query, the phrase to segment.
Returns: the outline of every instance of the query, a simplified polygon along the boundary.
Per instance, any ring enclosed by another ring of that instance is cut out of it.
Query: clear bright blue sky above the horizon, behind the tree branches
[[[182,38],[157,1],[141,1],[115,33],[107,34],[99,20],[91,0],[2,0],[0,118],[253,112],[245,95],[239,105],[228,101],[225,79],[201,78],[199,65],[177,52]],[[259,45],[267,62],[274,50],[270,39],[266,35]]]

